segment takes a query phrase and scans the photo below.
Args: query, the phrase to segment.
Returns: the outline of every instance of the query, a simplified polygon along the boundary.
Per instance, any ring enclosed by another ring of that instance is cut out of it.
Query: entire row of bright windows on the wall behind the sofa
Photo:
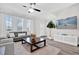
[[[31,20],[24,19],[21,17],[5,16],[5,28],[6,31],[30,31]]]

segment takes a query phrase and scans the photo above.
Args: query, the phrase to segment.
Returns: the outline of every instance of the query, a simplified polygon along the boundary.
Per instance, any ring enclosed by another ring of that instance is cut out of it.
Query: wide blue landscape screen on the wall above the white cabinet
[[[57,29],[77,29],[77,16],[57,20],[56,28]]]

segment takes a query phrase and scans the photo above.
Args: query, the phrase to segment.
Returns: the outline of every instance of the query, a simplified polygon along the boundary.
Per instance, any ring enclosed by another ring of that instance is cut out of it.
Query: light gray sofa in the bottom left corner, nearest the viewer
[[[0,55],[14,55],[13,38],[0,39]]]

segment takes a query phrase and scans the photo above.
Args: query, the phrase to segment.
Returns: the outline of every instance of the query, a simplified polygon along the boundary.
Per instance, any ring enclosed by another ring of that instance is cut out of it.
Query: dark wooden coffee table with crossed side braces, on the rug
[[[32,43],[31,38],[29,39],[30,42],[27,41],[27,38],[22,38],[22,44],[28,43],[30,45],[30,52],[34,52],[40,48],[43,48],[44,46],[46,46],[46,39],[41,39],[41,38],[36,38],[36,42]],[[39,44],[43,43],[43,46],[40,46]],[[36,47],[35,49],[33,49],[33,47]]]

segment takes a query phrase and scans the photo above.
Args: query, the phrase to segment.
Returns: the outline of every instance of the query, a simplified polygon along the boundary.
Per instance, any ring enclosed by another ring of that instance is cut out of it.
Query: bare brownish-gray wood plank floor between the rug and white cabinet
[[[47,40],[47,42],[49,45],[61,49],[59,55],[79,55],[79,47],[57,42],[54,40]]]

